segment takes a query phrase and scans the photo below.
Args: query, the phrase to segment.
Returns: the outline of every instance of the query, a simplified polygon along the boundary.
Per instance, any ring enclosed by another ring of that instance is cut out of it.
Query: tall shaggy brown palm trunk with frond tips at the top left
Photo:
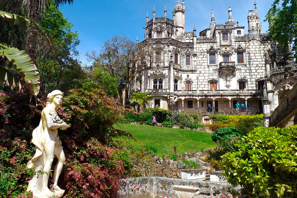
[[[36,21],[36,23],[40,22],[42,10],[47,8],[49,2],[53,0],[22,0],[23,4],[27,9],[28,18]],[[73,0],[54,0],[53,1],[57,6],[60,4],[71,4]],[[28,26],[28,36],[26,40],[26,50],[25,52],[31,57],[31,59],[35,60],[35,51],[37,44],[37,35],[38,35],[38,26],[36,24],[29,24]]]

